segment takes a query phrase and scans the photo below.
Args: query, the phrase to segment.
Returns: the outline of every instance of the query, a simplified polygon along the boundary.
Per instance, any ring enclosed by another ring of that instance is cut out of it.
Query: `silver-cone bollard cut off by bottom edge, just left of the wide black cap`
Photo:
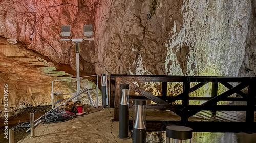
[[[145,105],[146,100],[134,100],[133,143],[146,142]],[[143,115],[144,114],[144,115]]]

